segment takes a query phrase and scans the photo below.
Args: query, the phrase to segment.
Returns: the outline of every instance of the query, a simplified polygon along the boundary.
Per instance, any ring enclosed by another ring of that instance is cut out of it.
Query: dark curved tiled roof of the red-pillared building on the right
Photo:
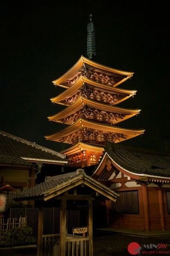
[[[105,151],[116,164],[130,172],[170,177],[170,152],[162,153],[113,143],[108,143]]]

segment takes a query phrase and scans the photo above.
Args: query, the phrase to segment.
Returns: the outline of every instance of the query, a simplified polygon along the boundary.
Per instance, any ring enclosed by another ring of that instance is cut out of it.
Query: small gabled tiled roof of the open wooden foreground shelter
[[[86,180],[86,182],[85,182]],[[80,181],[80,182],[79,182]],[[68,188],[68,185],[77,186],[77,182],[85,183],[86,185],[91,184],[91,187],[97,190],[99,187],[100,192],[106,195],[108,193],[108,197],[113,197],[112,199],[116,201],[116,196],[119,196],[111,189],[105,187],[101,183],[97,182],[96,180],[92,179],[88,175],[85,174],[83,169],[77,169],[76,172],[71,172],[63,175],[57,175],[53,177],[46,177],[43,183],[40,183],[34,187],[26,189],[19,194],[14,195],[13,199],[15,201],[20,200],[35,200],[35,199],[43,199],[45,196],[48,196],[52,192],[56,192],[57,190],[60,191],[58,194],[63,192],[64,187]],[[93,188],[93,189],[94,189]],[[60,190],[61,189],[61,190]],[[67,190],[67,189],[66,189]],[[56,194],[55,194],[56,195]]]

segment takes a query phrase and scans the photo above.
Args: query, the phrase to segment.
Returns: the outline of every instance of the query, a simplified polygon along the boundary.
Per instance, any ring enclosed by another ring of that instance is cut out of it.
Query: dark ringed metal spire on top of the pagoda
[[[92,22],[92,14],[90,14],[90,22],[87,26],[88,38],[87,38],[87,55],[89,59],[96,56],[96,44],[95,44],[95,30]]]

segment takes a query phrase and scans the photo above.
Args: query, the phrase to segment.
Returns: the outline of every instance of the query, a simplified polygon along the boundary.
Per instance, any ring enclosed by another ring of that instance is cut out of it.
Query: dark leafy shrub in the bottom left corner
[[[32,236],[32,228],[28,226],[14,227],[6,232],[0,233],[0,246],[26,245],[36,243],[36,239]]]

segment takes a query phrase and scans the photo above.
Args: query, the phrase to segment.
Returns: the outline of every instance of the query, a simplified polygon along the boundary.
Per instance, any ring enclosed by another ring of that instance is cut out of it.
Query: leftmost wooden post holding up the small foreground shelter
[[[41,205],[38,215],[38,239],[37,239],[37,256],[42,256],[42,234],[44,222],[44,207]]]

